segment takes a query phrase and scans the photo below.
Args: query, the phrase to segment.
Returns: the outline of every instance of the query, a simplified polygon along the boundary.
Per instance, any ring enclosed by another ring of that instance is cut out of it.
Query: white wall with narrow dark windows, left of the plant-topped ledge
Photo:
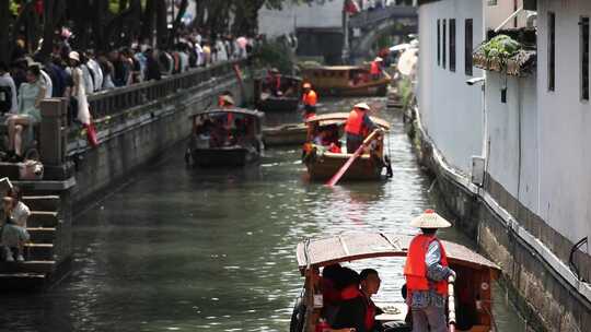
[[[422,123],[447,161],[465,174],[472,171],[472,156],[482,154],[483,98],[480,86],[465,81],[482,76],[464,73],[464,20],[474,20],[473,47],[482,43],[483,8],[480,1],[443,0],[419,7],[418,103]],[[437,20],[448,20],[447,66],[437,64]],[[449,19],[455,19],[456,66],[449,69]]]

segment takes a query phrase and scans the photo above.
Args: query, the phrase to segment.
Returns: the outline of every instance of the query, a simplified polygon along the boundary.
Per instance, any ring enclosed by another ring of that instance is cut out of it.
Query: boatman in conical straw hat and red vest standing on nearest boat
[[[421,229],[410,241],[404,266],[413,332],[447,332],[448,277],[455,278],[455,272],[448,266],[445,249],[436,233],[451,224],[433,210],[426,210],[410,226]]]

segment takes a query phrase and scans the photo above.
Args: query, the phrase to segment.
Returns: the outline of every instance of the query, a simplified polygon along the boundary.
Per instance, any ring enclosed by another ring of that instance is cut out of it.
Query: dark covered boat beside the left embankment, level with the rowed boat
[[[185,161],[201,167],[244,166],[263,152],[264,114],[243,108],[219,108],[190,116],[193,132]]]

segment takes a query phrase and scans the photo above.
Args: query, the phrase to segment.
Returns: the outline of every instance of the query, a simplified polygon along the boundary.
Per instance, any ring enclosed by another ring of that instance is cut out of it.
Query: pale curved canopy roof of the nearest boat
[[[306,239],[297,248],[298,266],[302,275],[310,268],[379,257],[406,257],[412,236],[383,233],[351,233],[325,238]],[[448,261],[472,269],[500,271],[483,256],[450,241],[442,241]]]

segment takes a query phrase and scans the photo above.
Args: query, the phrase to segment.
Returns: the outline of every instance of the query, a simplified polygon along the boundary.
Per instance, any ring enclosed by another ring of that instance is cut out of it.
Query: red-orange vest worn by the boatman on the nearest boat
[[[440,282],[430,282],[427,280],[427,264],[425,263],[425,256],[429,249],[429,245],[432,241],[439,242],[439,249],[441,251],[441,265],[448,266],[448,256],[441,241],[434,236],[417,235],[410,241],[408,247],[408,254],[406,256],[406,265],[404,266],[404,276],[406,277],[406,287],[408,292],[413,290],[428,290],[429,284],[438,294],[442,296],[448,295],[448,281],[442,280]]]

